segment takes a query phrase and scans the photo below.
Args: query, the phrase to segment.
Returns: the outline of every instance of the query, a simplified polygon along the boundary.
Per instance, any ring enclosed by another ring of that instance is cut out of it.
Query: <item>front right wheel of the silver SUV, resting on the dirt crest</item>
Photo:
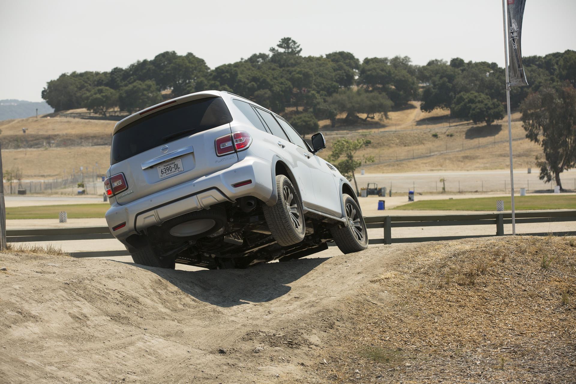
[[[348,223],[330,228],[332,238],[342,253],[360,252],[368,247],[368,233],[362,211],[352,196],[342,195]]]

